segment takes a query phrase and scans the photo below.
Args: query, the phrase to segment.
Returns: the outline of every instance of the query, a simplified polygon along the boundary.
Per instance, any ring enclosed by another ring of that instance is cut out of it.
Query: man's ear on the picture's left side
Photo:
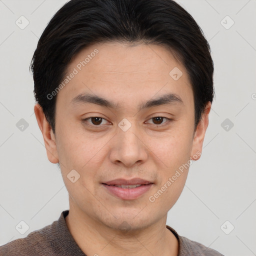
[[[57,163],[58,154],[57,154],[57,147],[56,147],[56,138],[39,104],[35,104],[34,113],[35,113],[38,126],[43,136],[48,160],[52,163]]]

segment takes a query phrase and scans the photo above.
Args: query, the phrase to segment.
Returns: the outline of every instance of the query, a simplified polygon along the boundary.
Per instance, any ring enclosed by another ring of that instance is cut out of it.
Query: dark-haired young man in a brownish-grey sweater
[[[172,0],[71,0],[31,69],[70,207],[0,255],[222,255],[166,226],[214,94],[209,45],[190,14]]]

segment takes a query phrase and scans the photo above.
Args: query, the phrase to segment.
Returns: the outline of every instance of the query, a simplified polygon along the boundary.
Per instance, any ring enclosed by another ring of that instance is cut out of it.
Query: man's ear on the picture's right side
[[[192,150],[191,150],[191,156],[190,156],[191,160],[198,160],[200,158],[204,135],[209,123],[208,116],[209,116],[210,108],[211,108],[211,103],[210,101],[208,101],[202,113],[201,120],[197,124],[196,130],[193,136]]]

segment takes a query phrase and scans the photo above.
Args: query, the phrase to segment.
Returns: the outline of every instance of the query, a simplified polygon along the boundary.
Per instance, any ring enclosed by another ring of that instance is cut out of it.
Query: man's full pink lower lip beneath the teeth
[[[151,188],[153,184],[150,183],[147,185],[141,185],[134,188],[121,188],[118,186],[112,186],[112,185],[106,185],[106,184],[102,184],[102,185],[111,194],[124,200],[131,200],[131,199],[136,199],[140,195],[144,194],[146,191],[148,191]]]

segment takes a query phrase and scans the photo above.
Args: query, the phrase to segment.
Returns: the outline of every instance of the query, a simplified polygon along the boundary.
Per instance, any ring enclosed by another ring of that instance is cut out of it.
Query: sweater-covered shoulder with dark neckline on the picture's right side
[[[190,240],[184,236],[180,236],[176,230],[174,230],[172,227],[166,225],[166,227],[176,236],[179,242],[179,253],[178,256],[195,256],[195,255],[200,255],[200,256],[224,256],[220,252],[206,247],[205,245]]]

